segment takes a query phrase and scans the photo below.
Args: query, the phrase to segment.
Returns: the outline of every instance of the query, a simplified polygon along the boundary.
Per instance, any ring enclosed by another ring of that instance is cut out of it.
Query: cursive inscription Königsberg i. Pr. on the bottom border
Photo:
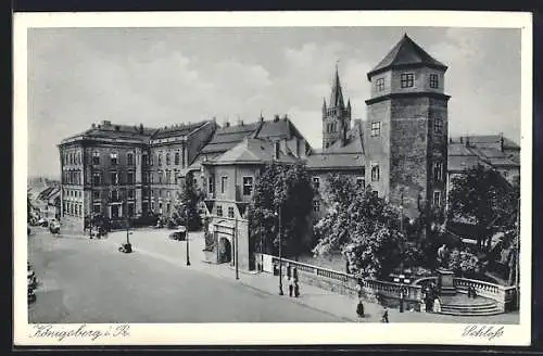
[[[30,338],[45,338],[63,341],[68,338],[80,338],[96,341],[101,338],[125,338],[130,335],[130,326],[105,326],[105,327],[89,327],[88,325],[80,326],[55,326],[50,323],[38,323],[33,326],[29,334]]]

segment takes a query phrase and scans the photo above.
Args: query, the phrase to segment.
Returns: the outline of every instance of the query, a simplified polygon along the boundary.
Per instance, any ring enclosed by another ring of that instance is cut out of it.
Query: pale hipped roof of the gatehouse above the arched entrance
[[[225,152],[212,164],[262,164],[267,162],[296,163],[299,162],[290,151],[279,151],[279,158],[274,158],[274,142],[266,139],[245,138],[232,149]]]

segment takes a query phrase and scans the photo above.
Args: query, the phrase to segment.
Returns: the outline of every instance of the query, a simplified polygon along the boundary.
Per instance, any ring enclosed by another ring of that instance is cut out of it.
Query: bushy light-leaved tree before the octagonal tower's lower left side
[[[349,271],[363,278],[388,276],[400,263],[399,212],[374,194],[371,187],[355,188],[349,178],[329,176],[330,208],[314,227],[315,254],[340,251]]]

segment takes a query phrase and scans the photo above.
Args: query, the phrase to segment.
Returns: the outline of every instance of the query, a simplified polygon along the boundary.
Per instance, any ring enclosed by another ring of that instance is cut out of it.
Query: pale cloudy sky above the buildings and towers
[[[353,118],[366,119],[366,74],[405,33],[449,66],[450,136],[503,132],[520,142],[519,29],[34,28],[28,175],[59,177],[56,144],[104,119],[163,127],[288,114],[320,148],[336,64]]]

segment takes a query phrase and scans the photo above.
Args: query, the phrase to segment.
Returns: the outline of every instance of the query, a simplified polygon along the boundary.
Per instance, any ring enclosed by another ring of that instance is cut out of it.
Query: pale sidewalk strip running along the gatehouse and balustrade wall
[[[168,239],[172,230],[167,229],[138,229],[129,236],[135,253],[146,254],[161,260],[172,263],[179,268],[191,268],[201,272],[215,276],[220,279],[236,281],[236,270],[232,266],[222,264],[214,265],[204,262],[204,238],[201,232],[191,232],[189,241],[190,266],[187,266],[187,243]],[[119,246],[126,242],[126,232],[117,231],[109,234],[104,242]],[[283,296],[279,295],[278,276],[267,272],[250,272],[239,270],[239,282],[244,288],[255,289],[269,295],[289,298],[304,307],[318,309],[337,316],[344,321],[357,321],[355,297],[332,293],[317,287],[300,284],[300,297],[289,297],[288,285],[283,283]],[[380,322],[383,307],[376,303],[364,303],[366,317],[361,322]],[[483,317],[457,317],[449,315],[435,315],[417,312],[400,313],[399,309],[389,309],[390,322],[484,322],[484,323],[517,323],[518,313],[502,314]]]

